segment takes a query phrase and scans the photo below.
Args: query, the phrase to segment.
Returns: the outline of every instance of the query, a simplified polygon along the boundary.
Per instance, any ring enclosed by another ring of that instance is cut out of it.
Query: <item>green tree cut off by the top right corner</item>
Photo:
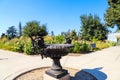
[[[108,0],[108,5],[105,14],[106,24],[110,27],[117,25],[120,30],[120,0]]]

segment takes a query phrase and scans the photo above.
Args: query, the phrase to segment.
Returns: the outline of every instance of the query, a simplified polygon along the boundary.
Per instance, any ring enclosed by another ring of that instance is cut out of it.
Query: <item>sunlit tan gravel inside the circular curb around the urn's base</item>
[[[21,74],[14,80],[43,80],[43,74],[45,73],[46,70],[50,68],[39,68],[35,69],[29,72],[26,72],[24,74]],[[73,77],[76,72],[78,72],[78,69],[72,69],[72,68],[64,68],[67,69],[70,73],[70,76]]]

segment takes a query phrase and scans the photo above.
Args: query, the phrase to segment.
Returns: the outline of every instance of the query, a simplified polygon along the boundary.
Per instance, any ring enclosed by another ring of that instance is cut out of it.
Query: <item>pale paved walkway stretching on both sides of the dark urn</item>
[[[85,70],[98,80],[120,80],[120,46],[111,47],[83,56],[65,56],[63,66]],[[0,80],[12,80],[25,71],[51,66],[49,58],[26,56],[0,50]]]

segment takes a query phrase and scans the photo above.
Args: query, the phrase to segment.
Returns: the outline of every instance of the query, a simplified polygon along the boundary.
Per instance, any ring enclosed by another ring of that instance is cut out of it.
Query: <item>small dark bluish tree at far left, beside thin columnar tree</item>
[[[7,38],[10,40],[10,39],[15,38],[16,36],[17,36],[17,30],[15,26],[9,27],[7,30]]]

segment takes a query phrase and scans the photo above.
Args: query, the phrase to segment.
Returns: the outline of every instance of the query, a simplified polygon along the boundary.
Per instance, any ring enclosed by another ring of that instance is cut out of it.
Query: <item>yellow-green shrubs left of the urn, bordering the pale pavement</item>
[[[31,49],[30,39],[27,37],[14,38],[9,41],[6,38],[0,39],[0,49],[26,53],[28,55],[33,54]]]

